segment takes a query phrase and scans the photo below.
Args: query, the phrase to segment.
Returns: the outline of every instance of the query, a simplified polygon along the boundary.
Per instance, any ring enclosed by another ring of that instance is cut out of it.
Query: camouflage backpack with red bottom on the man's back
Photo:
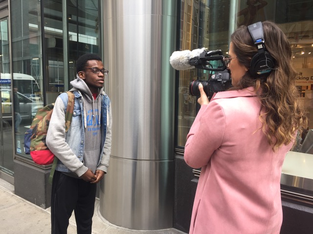
[[[70,127],[70,122],[73,117],[75,99],[75,96],[72,92],[67,92],[67,95],[68,101],[65,113],[66,132]],[[39,109],[30,125],[30,128],[25,132],[24,135],[25,154],[30,154],[34,162],[39,165],[49,165],[52,164],[54,160],[54,155],[48,149],[45,143],[45,137],[47,135],[53,107],[54,103]]]

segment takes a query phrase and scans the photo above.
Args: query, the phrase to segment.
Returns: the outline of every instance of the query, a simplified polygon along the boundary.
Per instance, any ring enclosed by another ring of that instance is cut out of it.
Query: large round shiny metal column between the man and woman
[[[113,128],[100,213],[130,229],[171,228],[177,0],[106,0],[103,11]]]

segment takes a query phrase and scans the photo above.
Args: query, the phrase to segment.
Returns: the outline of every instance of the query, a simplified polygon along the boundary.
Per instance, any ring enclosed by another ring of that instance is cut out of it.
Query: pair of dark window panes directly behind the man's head
[[[76,77],[76,60],[86,53],[99,54],[99,1],[67,1],[68,44],[64,48],[62,2],[45,1],[45,38],[47,38],[46,57],[48,65],[48,87],[55,97],[64,92],[67,84]],[[64,64],[67,53],[68,64]],[[67,66],[68,71],[64,69]],[[67,73],[67,74],[65,74]]]

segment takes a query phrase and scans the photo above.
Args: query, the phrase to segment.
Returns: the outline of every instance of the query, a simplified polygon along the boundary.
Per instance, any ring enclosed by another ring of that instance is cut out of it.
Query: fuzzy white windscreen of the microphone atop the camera
[[[193,51],[183,50],[175,51],[170,57],[170,63],[176,70],[188,70],[195,68],[195,65],[199,64],[197,61],[193,61],[204,52],[204,47],[201,49],[195,49]],[[192,59],[190,62],[189,60]]]

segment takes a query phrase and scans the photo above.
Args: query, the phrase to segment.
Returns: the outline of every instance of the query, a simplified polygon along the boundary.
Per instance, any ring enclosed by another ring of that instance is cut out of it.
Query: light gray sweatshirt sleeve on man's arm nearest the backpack
[[[46,144],[49,150],[73,173],[82,176],[88,168],[77,158],[65,141],[65,111],[61,98],[54,104]]]

